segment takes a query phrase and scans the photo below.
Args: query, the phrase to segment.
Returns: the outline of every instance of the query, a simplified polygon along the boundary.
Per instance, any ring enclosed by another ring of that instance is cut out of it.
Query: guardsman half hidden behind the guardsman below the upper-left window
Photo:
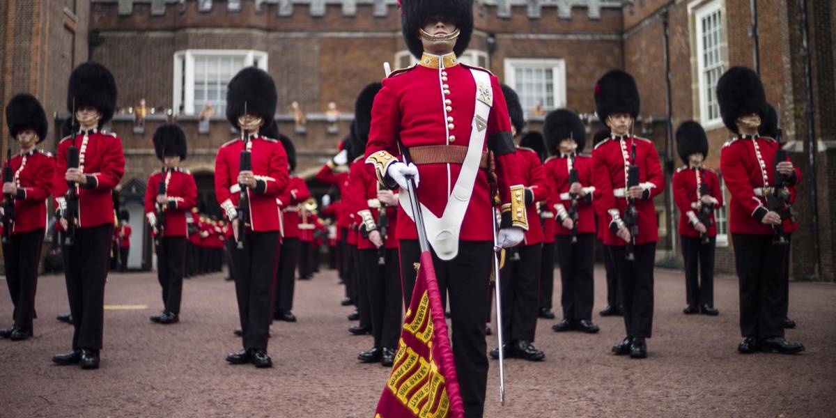
[[[299,238],[301,237],[298,212],[299,205],[308,200],[311,193],[302,177],[293,176],[293,172],[296,171],[296,148],[293,142],[278,132],[277,136],[288,154],[288,170],[291,176],[287,189],[278,197],[281,203],[283,237],[282,248],[279,250],[276,294],[273,299],[273,319],[296,322],[296,316],[293,315],[291,309],[293,308],[293,288],[296,284],[294,274],[298,263]]]

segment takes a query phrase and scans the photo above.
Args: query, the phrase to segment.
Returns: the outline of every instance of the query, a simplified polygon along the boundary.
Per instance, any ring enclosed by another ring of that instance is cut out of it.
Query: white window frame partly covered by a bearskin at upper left
[[[252,66],[268,70],[268,54],[252,49],[185,49],[174,53],[174,107],[186,115],[195,115],[195,58],[200,56],[243,57],[244,67]],[[185,80],[184,80],[185,78]],[[185,85],[184,85],[185,83]],[[183,90],[185,89],[185,91]]]

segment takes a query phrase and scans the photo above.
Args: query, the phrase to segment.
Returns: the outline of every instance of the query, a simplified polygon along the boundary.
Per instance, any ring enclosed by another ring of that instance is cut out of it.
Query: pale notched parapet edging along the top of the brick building
[[[325,15],[325,9],[329,6],[339,6],[342,14],[347,17],[357,14],[358,6],[371,6],[375,17],[385,17],[390,9],[397,4],[397,0],[92,0],[92,3],[118,3],[120,16],[130,16],[134,13],[134,6],[138,4],[150,4],[151,16],[162,16],[166,14],[166,5],[183,5],[184,3],[197,3],[200,12],[210,13],[213,8],[226,8],[228,11],[237,12],[241,10],[242,3],[254,1],[255,10],[260,12],[265,4],[276,5],[278,16],[290,17],[296,13],[299,7],[308,8],[308,13],[313,17]],[[408,1],[408,0],[406,0]],[[538,19],[542,16],[543,8],[557,8],[559,18],[571,18],[572,8],[586,8],[589,18],[601,17],[602,8],[621,8],[624,3],[631,3],[630,0],[475,0],[477,6],[496,8],[497,17],[511,18],[516,10],[526,11],[528,18]]]

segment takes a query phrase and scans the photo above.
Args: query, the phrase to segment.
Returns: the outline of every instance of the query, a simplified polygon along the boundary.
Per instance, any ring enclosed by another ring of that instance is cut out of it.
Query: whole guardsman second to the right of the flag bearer
[[[555,332],[599,331],[592,322],[594,305],[595,214],[592,159],[580,155],[586,145],[584,122],[572,110],[554,110],[543,124],[548,148],[554,156],[546,162],[551,196],[548,207],[555,216],[555,242],[560,263],[563,320]]]

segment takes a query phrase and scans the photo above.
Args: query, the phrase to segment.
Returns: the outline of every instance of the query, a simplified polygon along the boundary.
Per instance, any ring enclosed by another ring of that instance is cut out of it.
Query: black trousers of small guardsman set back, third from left
[[[183,298],[183,268],[186,263],[186,237],[164,237],[157,246],[157,280],[162,288],[166,312],[180,314]]]

